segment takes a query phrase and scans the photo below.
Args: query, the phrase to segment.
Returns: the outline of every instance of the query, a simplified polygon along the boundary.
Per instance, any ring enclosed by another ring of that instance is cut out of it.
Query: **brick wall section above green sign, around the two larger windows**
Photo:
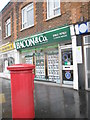
[[[26,30],[21,30],[21,9],[27,5],[27,3],[19,4],[19,17],[18,17],[18,39],[26,36],[34,35],[50,28],[55,28],[65,24],[75,24],[81,22],[80,19],[83,16],[84,21],[88,20],[88,3],[61,3],[61,15],[51,20],[46,20],[47,16],[47,4],[46,2],[38,2],[34,4],[34,27]]]

